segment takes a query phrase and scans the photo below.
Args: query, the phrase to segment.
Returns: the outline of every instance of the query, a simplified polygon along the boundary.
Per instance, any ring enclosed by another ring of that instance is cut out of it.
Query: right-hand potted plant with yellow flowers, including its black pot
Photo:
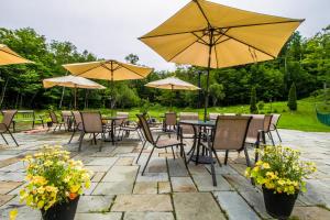
[[[304,179],[316,172],[314,163],[300,161],[300,152],[283,146],[265,146],[261,161],[248,167],[245,176],[261,185],[267,212],[287,219],[299,193],[306,191]]]

